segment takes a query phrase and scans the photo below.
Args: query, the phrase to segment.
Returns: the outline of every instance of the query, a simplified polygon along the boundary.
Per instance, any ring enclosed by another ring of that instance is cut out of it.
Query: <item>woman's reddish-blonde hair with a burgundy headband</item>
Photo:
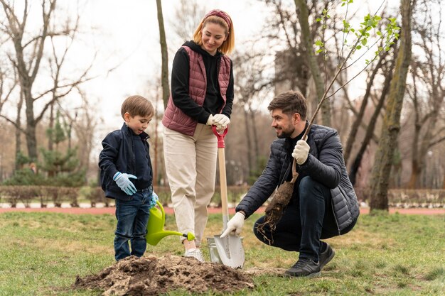
[[[230,20],[230,28],[224,18],[220,16],[205,16],[203,21],[199,23],[198,28],[196,28],[195,33],[193,33],[193,41],[195,41],[195,43],[198,45],[203,45],[203,28],[208,23],[215,23],[225,29],[225,35],[227,36],[227,39],[223,42],[223,45],[218,48],[218,51],[220,53],[224,53],[225,55],[231,53],[233,48],[235,48],[235,31],[233,29],[232,18],[230,18],[227,13],[225,13],[225,15],[227,15]]]

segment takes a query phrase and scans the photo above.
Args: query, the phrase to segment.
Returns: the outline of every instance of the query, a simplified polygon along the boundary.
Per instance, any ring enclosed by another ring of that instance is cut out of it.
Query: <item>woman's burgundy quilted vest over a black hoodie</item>
[[[188,53],[190,60],[190,77],[188,80],[188,94],[196,104],[203,106],[205,99],[205,92],[207,89],[207,75],[205,75],[205,66],[203,57],[191,50],[188,46],[183,46]],[[221,97],[223,97],[225,106],[227,98],[225,94],[230,80],[230,58],[226,55],[221,55],[220,69],[218,72],[218,83],[220,84]],[[220,110],[220,111],[221,111]],[[195,133],[198,121],[186,115],[173,103],[173,98],[168,99],[166,111],[163,114],[162,124],[173,131],[184,133],[188,136],[193,136]]]

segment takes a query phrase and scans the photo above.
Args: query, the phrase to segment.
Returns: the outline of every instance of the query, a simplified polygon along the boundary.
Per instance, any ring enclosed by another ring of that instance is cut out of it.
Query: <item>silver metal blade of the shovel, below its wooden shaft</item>
[[[245,258],[240,236],[229,234],[223,238],[220,235],[214,237],[221,262],[231,268],[242,268]]]

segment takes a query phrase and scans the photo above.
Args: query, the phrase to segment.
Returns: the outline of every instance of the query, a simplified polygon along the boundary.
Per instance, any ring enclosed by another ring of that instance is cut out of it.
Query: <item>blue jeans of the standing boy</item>
[[[133,199],[116,199],[117,226],[114,232],[114,258],[119,261],[130,255],[141,257],[146,249],[146,225],[149,221],[149,202],[153,190],[137,191]],[[129,241],[132,243],[130,253]]]

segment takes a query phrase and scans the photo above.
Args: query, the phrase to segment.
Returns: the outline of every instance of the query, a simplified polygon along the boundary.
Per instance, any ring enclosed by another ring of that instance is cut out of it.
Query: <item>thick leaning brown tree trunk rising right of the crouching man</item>
[[[400,113],[406,87],[407,72],[411,60],[411,16],[412,0],[402,0],[402,26],[400,33],[400,48],[397,54],[395,73],[392,78],[390,94],[387,100],[385,119],[382,125],[379,147],[375,154],[370,186],[370,210],[388,210],[387,190],[394,151],[397,148],[397,136],[400,131]]]

